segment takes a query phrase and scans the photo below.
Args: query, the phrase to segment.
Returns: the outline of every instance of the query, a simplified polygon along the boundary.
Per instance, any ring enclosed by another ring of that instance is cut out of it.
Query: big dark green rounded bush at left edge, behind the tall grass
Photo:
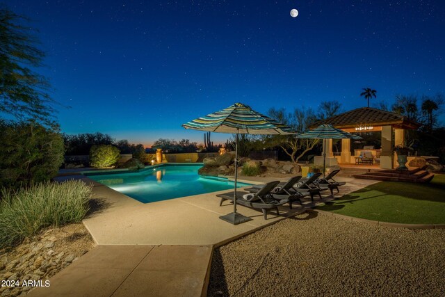
[[[43,182],[63,163],[63,138],[57,127],[0,120],[0,187]]]

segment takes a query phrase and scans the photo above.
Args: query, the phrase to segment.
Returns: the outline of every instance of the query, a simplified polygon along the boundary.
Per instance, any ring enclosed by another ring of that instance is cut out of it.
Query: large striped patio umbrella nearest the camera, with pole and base
[[[236,212],[236,179],[238,179],[238,134],[296,134],[293,129],[266,115],[254,111],[245,104],[235,103],[232,106],[197,118],[182,125],[186,129],[236,134],[235,142],[235,189],[234,211],[220,218],[234,225],[251,220]]]

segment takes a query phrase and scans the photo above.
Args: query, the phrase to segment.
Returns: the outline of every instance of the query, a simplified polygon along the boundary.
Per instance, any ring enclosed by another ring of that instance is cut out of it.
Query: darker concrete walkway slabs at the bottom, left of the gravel
[[[212,252],[209,246],[97,246],[29,296],[202,296]]]

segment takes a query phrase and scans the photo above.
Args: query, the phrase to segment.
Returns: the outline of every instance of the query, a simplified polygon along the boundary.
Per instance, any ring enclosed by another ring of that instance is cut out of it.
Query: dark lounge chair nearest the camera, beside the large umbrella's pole
[[[249,193],[249,192],[243,192],[243,191],[236,191],[236,203],[241,204],[245,207],[250,207],[252,209],[261,209],[263,211],[264,219],[267,220],[267,211],[270,209],[276,209],[277,210],[277,216],[280,216],[280,211],[278,210],[278,207],[280,205],[286,204],[289,202],[289,200],[282,200],[277,201],[275,200],[272,195],[270,195],[270,191],[277,186],[277,184],[280,184],[280,182],[268,182],[267,184],[264,184],[263,187],[257,191],[257,193]],[[216,195],[217,197],[221,198],[220,206],[223,204],[225,200],[234,200],[234,192],[228,192],[223,194]]]

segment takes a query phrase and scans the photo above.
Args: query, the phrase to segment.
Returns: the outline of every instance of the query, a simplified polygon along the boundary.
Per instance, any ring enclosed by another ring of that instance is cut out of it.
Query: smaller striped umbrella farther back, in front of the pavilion
[[[314,130],[306,131],[305,133],[298,134],[298,138],[314,138],[323,139],[323,177],[325,176],[325,163],[326,163],[326,150],[325,150],[325,140],[326,139],[362,139],[362,137],[355,134],[350,134],[349,132],[343,131],[332,127],[331,125],[320,125]]]

